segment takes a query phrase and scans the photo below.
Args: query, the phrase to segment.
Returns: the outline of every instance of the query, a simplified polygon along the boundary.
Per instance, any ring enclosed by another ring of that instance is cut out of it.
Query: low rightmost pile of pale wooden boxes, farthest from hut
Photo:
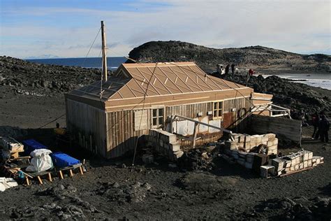
[[[272,166],[274,166],[274,175],[280,176],[311,169],[313,166],[323,164],[323,162],[324,157],[313,156],[313,152],[302,150],[292,155],[272,159]]]

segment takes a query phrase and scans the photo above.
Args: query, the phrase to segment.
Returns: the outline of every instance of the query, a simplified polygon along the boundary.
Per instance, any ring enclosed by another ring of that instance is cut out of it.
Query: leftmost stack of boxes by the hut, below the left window
[[[172,161],[176,161],[184,154],[184,152],[180,150],[177,136],[168,131],[150,129],[149,135],[146,136],[146,141],[147,144],[152,145],[157,152]]]

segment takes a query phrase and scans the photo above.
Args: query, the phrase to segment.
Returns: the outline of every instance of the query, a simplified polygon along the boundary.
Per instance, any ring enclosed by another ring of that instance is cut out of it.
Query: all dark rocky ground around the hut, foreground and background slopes
[[[7,64],[7,60],[11,63]],[[63,93],[71,87],[78,87],[76,78],[82,85],[98,79],[98,71],[35,66],[6,57],[1,57],[0,64],[0,136],[10,134],[17,138],[36,138],[54,148],[51,128],[55,122],[65,126]],[[14,68],[16,64],[20,64],[20,69]],[[64,78],[61,77],[62,69],[66,70],[63,71]],[[15,85],[19,82],[17,78],[21,83]],[[293,103],[288,103],[290,108],[309,106],[309,99],[304,97],[308,96],[321,101],[316,106],[329,107],[330,110],[330,95],[325,94],[327,90],[295,85],[274,77],[252,79],[250,84],[256,90],[272,92],[279,102],[283,100],[281,96],[287,93],[284,99],[293,99]],[[41,80],[69,86],[43,87]],[[239,82],[241,78],[235,80]],[[73,86],[70,86],[71,83]],[[295,92],[302,93],[302,99],[295,97]],[[323,93],[324,96],[321,96]],[[327,98],[323,98],[325,96]],[[19,185],[0,192],[0,218],[330,220],[331,145],[312,141],[309,138],[311,134],[311,127],[304,127],[302,147],[313,151],[314,155],[323,156],[325,163],[309,171],[271,179],[259,178],[239,165],[228,164],[218,155],[213,157],[212,162],[206,162],[199,159],[199,152],[193,152],[188,157],[196,159],[194,164],[179,169],[169,166],[162,157],[156,157],[156,163],[149,165],[142,164],[138,157],[135,166],[131,166],[131,156],[105,161],[77,151],[75,146],[72,149],[62,146],[59,149],[73,157],[87,159],[87,173],[64,180],[56,178],[53,183],[45,180],[44,185],[38,185],[35,180],[31,186]]]

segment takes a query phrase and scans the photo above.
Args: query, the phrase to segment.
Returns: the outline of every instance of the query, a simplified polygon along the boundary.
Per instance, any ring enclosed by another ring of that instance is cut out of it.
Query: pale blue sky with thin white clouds
[[[0,55],[99,57],[101,35],[96,34],[101,20],[111,57],[127,56],[147,41],[170,40],[212,48],[263,45],[331,55],[330,4],[329,0],[0,0]]]

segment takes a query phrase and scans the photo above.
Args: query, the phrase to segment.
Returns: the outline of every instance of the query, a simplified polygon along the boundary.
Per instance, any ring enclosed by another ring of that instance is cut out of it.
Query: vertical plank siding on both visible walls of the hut
[[[235,120],[237,120],[237,111],[240,108],[249,110],[251,107],[250,97],[218,99],[217,101],[223,101],[223,112],[230,112],[235,108]],[[198,113],[203,113],[201,117],[198,117],[198,119],[203,119],[203,117],[208,116],[207,113],[209,111],[213,110],[213,106],[213,101],[177,106],[149,106],[145,108],[147,110],[147,118],[143,117],[145,122],[142,122],[142,125],[144,127],[139,129],[137,128],[138,122],[135,122],[135,118],[140,119],[137,116],[141,113],[141,109],[105,113],[104,110],[94,108],[88,104],[66,99],[67,125],[68,130],[80,141],[80,145],[103,157],[114,158],[120,157],[128,151],[133,151],[137,138],[149,133],[149,129],[152,128],[152,108],[165,108],[165,124],[163,128],[165,129],[170,122],[168,116],[182,115],[196,118]],[[138,112],[138,115],[135,112]],[[212,116],[210,116],[210,119],[212,120]],[[239,122],[240,120],[236,124]],[[90,141],[90,137],[92,141]],[[221,132],[203,133],[200,134],[200,137],[197,141],[198,145],[215,141],[221,137]],[[92,147],[90,147],[90,144],[92,144]],[[191,141],[184,141],[183,145],[191,145]]]

